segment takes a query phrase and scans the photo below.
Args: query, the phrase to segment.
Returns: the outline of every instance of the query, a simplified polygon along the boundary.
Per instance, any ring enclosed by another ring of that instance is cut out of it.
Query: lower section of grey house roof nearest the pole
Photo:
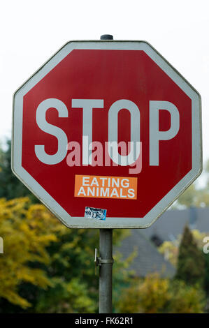
[[[124,260],[134,251],[137,252],[129,266],[136,276],[143,277],[153,272],[158,272],[162,277],[172,277],[175,274],[172,264],[164,259],[164,255],[141,233],[141,229],[131,229],[130,236],[122,241],[117,251],[122,253]]]

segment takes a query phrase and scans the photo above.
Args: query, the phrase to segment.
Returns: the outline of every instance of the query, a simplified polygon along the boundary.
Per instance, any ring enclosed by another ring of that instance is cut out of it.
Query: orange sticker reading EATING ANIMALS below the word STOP
[[[76,174],[74,196],[136,200],[137,178]]]

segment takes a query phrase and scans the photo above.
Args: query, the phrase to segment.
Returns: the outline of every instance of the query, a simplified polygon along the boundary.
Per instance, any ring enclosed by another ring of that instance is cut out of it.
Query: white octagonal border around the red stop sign
[[[62,59],[75,49],[92,50],[143,50],[164,72],[178,84],[189,98],[192,99],[192,170],[158,202],[143,218],[110,218],[106,221],[94,218],[70,216],[38,182],[22,167],[22,112],[23,97]],[[54,56],[39,68],[29,80],[17,89],[13,97],[13,142],[12,170],[29,190],[52,211],[68,228],[148,228],[166,211],[202,171],[202,140],[201,140],[201,96],[178,73],[164,57],[145,41],[127,40],[89,40],[70,41]]]

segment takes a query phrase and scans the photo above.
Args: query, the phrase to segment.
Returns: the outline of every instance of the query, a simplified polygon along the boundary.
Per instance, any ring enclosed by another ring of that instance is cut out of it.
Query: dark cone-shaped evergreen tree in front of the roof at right
[[[179,248],[175,278],[185,281],[185,283],[190,285],[196,283],[203,285],[204,275],[205,260],[203,258],[203,253],[197,247],[192,232],[186,225]]]

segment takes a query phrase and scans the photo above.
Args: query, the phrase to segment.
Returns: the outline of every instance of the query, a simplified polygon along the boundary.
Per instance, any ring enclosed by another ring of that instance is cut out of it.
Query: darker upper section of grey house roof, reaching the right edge
[[[209,207],[168,210],[150,228],[143,229],[141,232],[148,239],[157,236],[161,241],[173,240],[182,234],[186,224],[190,229],[209,232]]]

